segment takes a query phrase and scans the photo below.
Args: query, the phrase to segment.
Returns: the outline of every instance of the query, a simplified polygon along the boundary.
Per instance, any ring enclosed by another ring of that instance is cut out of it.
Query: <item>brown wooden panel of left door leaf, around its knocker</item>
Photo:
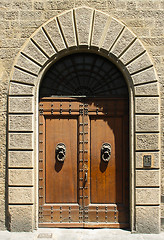
[[[77,203],[77,118],[46,118],[46,203]],[[66,158],[55,158],[58,143],[66,145]]]

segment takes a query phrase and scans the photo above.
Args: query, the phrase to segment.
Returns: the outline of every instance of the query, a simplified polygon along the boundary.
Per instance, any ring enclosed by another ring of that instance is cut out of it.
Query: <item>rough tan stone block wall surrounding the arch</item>
[[[0,228],[5,228],[6,109],[14,59],[31,34],[57,14],[89,6],[123,22],[141,40],[157,70],[161,94],[161,137],[164,125],[164,2],[161,0],[0,0]],[[147,90],[145,90],[147,91]],[[143,93],[144,95],[145,93]],[[138,121],[142,121],[139,119]],[[158,128],[157,128],[158,129]],[[158,130],[157,130],[158,133]],[[164,195],[164,141],[161,139],[161,193]],[[141,189],[142,190],[142,189]],[[139,199],[139,192],[138,199]],[[146,194],[146,193],[145,193]],[[142,199],[141,199],[142,200]],[[140,201],[141,201],[140,200]],[[162,208],[163,209],[163,208]],[[144,210],[143,210],[144,212]],[[144,214],[144,213],[143,213]],[[164,211],[161,212],[164,217]]]

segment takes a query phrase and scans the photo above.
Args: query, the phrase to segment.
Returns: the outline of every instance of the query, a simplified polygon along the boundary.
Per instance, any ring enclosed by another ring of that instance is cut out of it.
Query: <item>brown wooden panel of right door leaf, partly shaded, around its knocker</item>
[[[101,160],[103,143],[111,144],[109,162]],[[118,162],[118,164],[116,164]],[[116,175],[119,182],[116,184]],[[122,202],[122,118],[91,117],[91,203]]]

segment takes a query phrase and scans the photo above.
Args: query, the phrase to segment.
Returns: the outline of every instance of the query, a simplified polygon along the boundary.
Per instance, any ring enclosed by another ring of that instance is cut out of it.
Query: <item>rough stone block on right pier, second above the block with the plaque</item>
[[[159,116],[155,115],[136,115],[136,131],[156,132],[159,131]]]

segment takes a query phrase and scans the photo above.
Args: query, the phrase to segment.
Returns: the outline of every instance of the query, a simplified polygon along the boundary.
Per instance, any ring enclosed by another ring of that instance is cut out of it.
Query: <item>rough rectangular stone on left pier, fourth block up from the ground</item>
[[[33,167],[32,151],[9,151],[9,167]]]

